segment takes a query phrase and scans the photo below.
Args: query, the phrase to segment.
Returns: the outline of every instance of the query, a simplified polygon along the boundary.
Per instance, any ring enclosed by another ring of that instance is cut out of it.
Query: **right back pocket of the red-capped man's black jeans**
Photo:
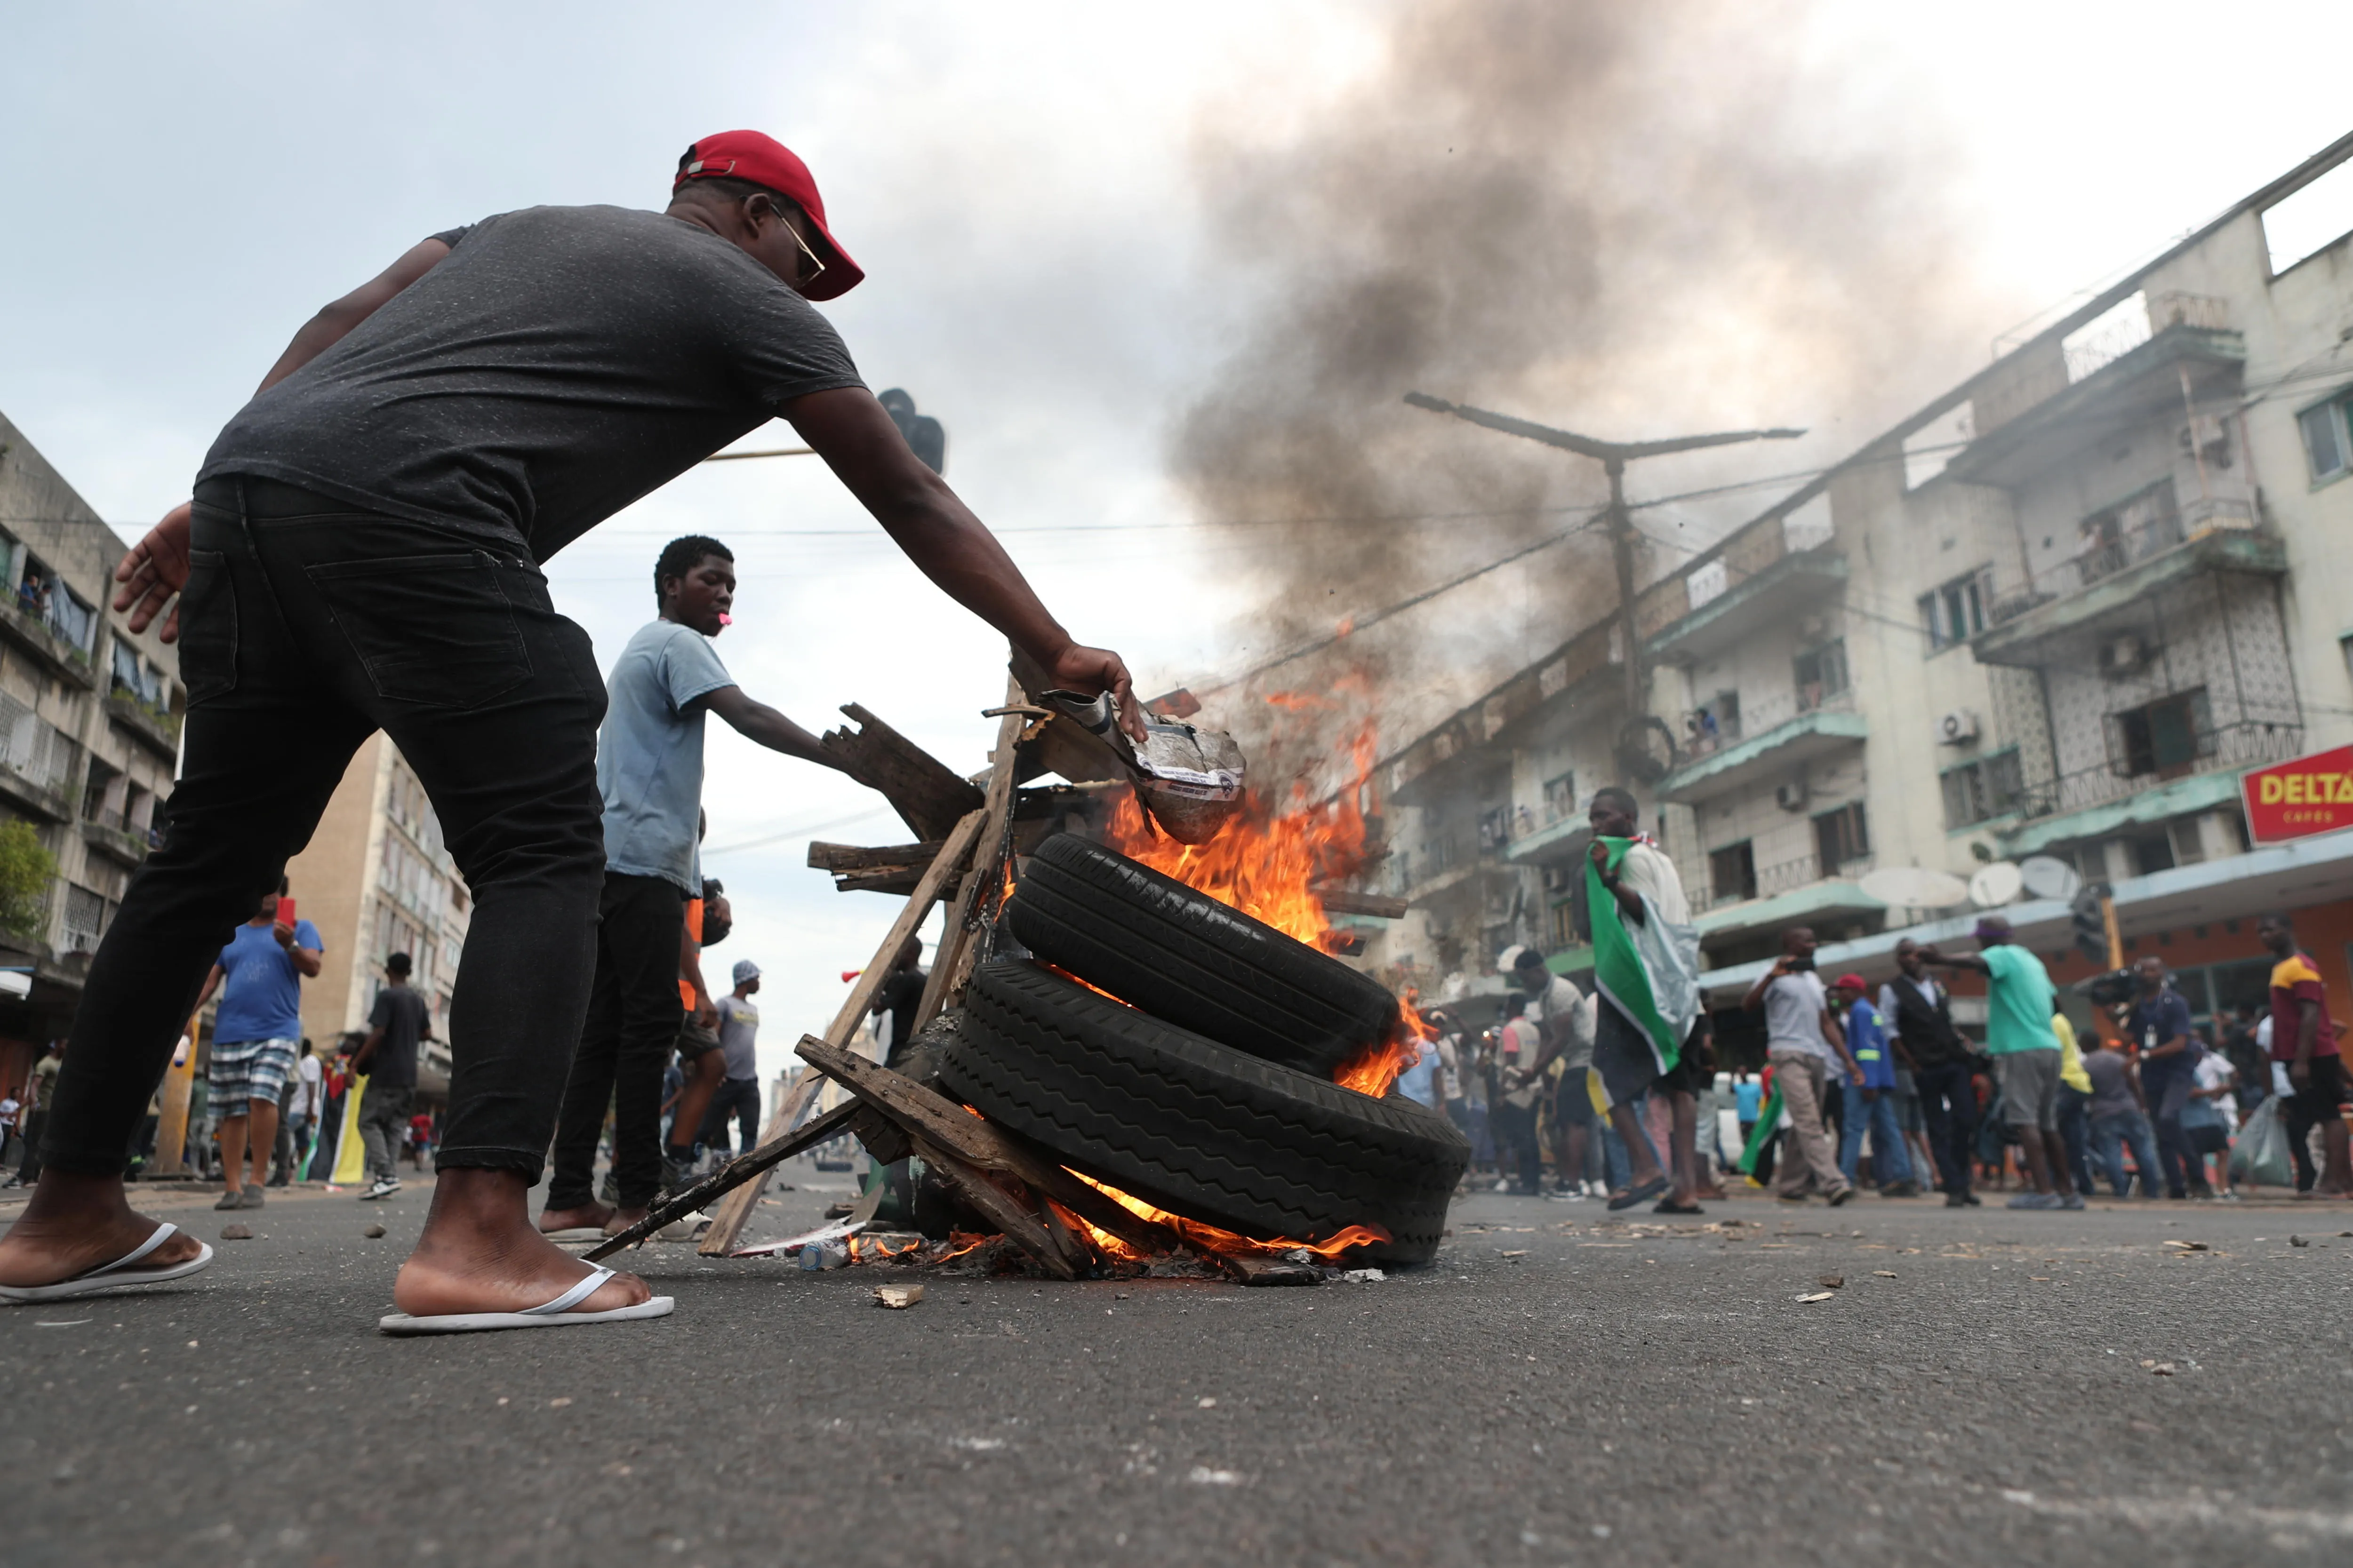
[[[532,677],[515,607],[482,550],[306,571],[386,701],[478,708]]]

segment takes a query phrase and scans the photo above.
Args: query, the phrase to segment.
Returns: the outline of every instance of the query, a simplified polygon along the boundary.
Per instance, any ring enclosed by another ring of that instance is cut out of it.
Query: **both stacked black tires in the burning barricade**
[[[991,959],[965,992],[941,1077],[967,1105],[1191,1220],[1379,1227],[1379,1262],[1438,1251],[1471,1145],[1332,1081],[1402,1027],[1377,980],[1073,835],[1038,846],[1007,922],[1038,961]]]

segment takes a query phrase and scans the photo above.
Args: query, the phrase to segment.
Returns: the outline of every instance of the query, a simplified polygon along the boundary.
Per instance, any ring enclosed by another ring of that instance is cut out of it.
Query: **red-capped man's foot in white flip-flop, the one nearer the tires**
[[[409,1316],[529,1312],[591,1272],[532,1227],[520,1171],[452,1168],[433,1187],[433,1211],[393,1281],[393,1305]],[[652,1295],[635,1274],[614,1274],[572,1312],[635,1307]]]

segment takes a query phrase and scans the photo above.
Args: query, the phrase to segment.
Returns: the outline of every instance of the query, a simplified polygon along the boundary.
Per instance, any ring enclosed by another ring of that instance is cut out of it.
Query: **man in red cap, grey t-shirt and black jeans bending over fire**
[[[56,1300],[205,1267],[191,1237],[129,1208],[122,1150],[212,954],[381,729],[475,896],[440,1182],[381,1326],[668,1312],[529,1218],[607,870],[602,679],[541,564],[784,416],[948,597],[1054,686],[1111,691],[1144,738],[1120,656],[1054,621],[812,308],[861,277],[807,165],[725,132],[678,160],[666,212],[525,207],[452,228],[296,331],[193,501],[115,569],[132,630],[184,592],[162,630],[188,684],[181,780],[92,959],[42,1182],[0,1237],[0,1293]]]

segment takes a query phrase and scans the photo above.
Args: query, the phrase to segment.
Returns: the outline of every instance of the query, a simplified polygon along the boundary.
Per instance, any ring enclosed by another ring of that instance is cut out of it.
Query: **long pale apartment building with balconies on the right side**
[[[2111,882],[2200,1013],[2261,999],[2268,907],[2353,1004],[2353,835],[2252,846],[2240,809],[2249,766],[2353,743],[2348,160],[2353,136],[1642,588],[1635,731],[1612,616],[1384,759],[1412,910],[1367,959],[1473,992],[1511,943],[1591,969],[1584,809],[1638,783],[1718,1006],[1791,924],[1868,973],[1901,933],[1967,933],[1972,907],[1866,893],[1873,867],[2026,856]],[[2005,914],[2089,971],[2064,905]]]

